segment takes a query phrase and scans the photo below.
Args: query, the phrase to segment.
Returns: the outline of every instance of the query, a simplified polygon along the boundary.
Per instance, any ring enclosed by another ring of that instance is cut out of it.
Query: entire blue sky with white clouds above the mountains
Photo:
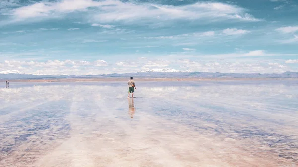
[[[298,71],[298,0],[0,0],[0,71]]]

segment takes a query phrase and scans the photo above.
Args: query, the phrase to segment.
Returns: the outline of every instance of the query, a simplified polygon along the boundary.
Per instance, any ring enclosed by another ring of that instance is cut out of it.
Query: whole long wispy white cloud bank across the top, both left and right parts
[[[219,2],[197,2],[183,6],[157,5],[150,3],[132,3],[118,0],[62,0],[41,1],[32,5],[15,8],[10,11],[14,21],[30,18],[57,18],[66,13],[88,11],[90,21],[108,23],[115,21],[160,22],[166,20],[205,20],[205,21],[260,21],[246,13],[244,8]]]

